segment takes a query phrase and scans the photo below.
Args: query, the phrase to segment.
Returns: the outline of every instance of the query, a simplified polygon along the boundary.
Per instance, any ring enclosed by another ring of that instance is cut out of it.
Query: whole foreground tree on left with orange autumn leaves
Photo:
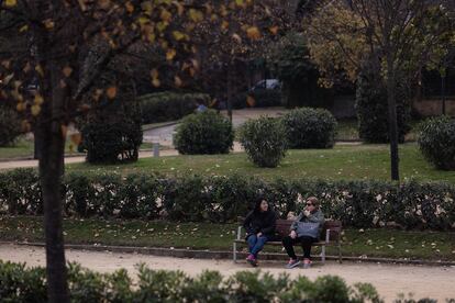
[[[0,36],[22,38],[27,46],[0,54],[0,97],[16,101],[22,126],[34,132],[38,146],[49,302],[69,301],[60,192],[66,132],[76,116],[102,108],[100,97],[113,100],[118,93],[115,81],[100,86],[100,75],[119,56],[137,54],[137,44],[153,44],[171,63],[168,78],[180,87],[198,70],[191,42],[197,24],[210,19],[210,26],[219,26],[226,10],[256,9],[268,8],[252,0],[228,7],[184,0],[0,0],[0,18],[9,22]],[[260,30],[253,20],[242,29]],[[160,66],[149,75],[156,87],[167,80]]]

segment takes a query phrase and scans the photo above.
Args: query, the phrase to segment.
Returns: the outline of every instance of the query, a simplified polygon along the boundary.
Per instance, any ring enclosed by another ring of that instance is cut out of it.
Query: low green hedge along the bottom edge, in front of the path
[[[191,278],[141,265],[133,282],[124,269],[97,273],[69,263],[68,282],[71,302],[384,302],[373,285],[351,288],[333,276],[312,282],[259,271],[223,279],[218,271],[204,271]],[[45,269],[0,260],[0,298],[2,302],[47,302]]]

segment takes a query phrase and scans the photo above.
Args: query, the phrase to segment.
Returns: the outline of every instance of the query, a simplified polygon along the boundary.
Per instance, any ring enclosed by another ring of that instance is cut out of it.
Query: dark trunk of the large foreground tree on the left
[[[66,280],[65,247],[62,220],[62,177],[64,173],[65,138],[59,114],[65,94],[59,86],[60,68],[51,66],[52,92],[43,104],[38,125],[40,180],[44,202],[44,232],[46,238],[46,273],[48,302],[69,302]]]

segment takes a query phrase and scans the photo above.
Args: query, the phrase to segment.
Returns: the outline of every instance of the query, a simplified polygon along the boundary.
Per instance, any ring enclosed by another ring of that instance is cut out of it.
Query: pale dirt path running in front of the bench
[[[95,252],[67,250],[67,258],[80,262],[84,267],[111,272],[125,268],[134,272],[134,266],[145,262],[155,269],[178,269],[188,274],[198,274],[204,269],[219,270],[224,276],[231,276],[238,270],[252,270],[245,262],[232,263],[229,260],[178,259],[167,257],[144,256],[134,254]],[[0,245],[0,259],[15,262],[26,262],[30,266],[43,266],[44,250],[42,248]],[[325,266],[315,265],[313,268],[285,270],[281,262],[267,262],[262,269],[274,274],[288,272],[292,278],[304,274],[315,279],[323,274],[336,274],[348,284],[369,282],[374,284],[387,302],[397,299],[398,293],[413,293],[414,298],[432,298],[445,302],[446,298],[455,298],[454,267],[419,267],[399,265],[343,263],[328,262]]]

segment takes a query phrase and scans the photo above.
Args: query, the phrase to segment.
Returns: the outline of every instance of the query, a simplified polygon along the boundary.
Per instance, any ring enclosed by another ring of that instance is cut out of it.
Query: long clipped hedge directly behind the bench
[[[345,226],[455,228],[455,186],[415,181],[275,180],[243,176],[160,178],[134,173],[68,173],[63,181],[67,216],[119,216],[176,221],[233,221],[265,197],[286,217],[304,198],[321,200],[326,217]],[[0,173],[0,213],[42,214],[38,177],[33,169]]]

